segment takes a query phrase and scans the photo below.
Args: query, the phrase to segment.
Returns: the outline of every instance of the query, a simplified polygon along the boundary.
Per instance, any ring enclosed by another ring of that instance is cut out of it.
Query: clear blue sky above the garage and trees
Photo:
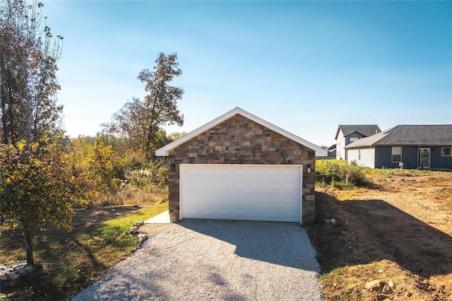
[[[160,52],[192,131],[234,107],[312,143],[338,124],[452,123],[452,1],[43,1],[64,36],[59,103],[95,135]]]

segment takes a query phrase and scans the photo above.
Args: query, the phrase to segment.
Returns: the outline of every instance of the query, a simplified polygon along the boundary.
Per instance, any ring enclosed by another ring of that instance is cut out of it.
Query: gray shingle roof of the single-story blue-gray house
[[[362,146],[452,146],[452,124],[398,125],[345,148]]]

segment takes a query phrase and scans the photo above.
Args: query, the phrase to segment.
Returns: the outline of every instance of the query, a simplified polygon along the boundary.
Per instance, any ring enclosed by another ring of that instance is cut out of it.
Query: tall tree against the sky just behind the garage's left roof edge
[[[148,93],[144,100],[132,98],[113,114],[111,122],[102,124],[105,132],[128,138],[131,146],[145,150],[148,158],[167,142],[161,126],[184,124],[184,115],[177,110],[177,101],[182,99],[184,90],[169,85],[174,77],[182,74],[176,60],[175,53],[168,56],[160,53],[153,71],[144,69],[138,74]]]

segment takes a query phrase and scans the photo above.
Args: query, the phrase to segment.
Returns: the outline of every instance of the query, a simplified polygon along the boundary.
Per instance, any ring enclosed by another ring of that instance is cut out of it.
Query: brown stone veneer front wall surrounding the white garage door
[[[315,152],[242,115],[235,115],[213,129],[169,151],[169,216],[179,220],[180,164],[303,165],[303,224],[314,222]],[[307,165],[312,172],[307,173]],[[172,167],[173,170],[172,171]],[[175,168],[174,168],[175,167]]]

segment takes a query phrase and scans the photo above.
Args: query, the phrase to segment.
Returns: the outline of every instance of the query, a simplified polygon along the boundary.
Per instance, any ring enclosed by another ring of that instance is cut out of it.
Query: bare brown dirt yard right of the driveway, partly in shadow
[[[328,300],[451,300],[452,174],[369,179],[372,189],[317,189],[307,231]],[[336,223],[326,225],[331,218]],[[394,286],[365,288],[375,280]]]

